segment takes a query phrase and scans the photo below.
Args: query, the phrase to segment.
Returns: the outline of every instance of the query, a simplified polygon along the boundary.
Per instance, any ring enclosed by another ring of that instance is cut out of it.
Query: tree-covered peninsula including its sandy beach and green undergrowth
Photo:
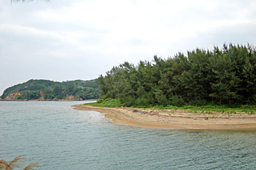
[[[124,62],[100,75],[97,84],[100,99],[91,106],[75,108],[105,113],[114,123],[153,128],[256,129],[253,45],[197,48],[167,59],[155,55],[154,60],[140,61],[137,66]]]

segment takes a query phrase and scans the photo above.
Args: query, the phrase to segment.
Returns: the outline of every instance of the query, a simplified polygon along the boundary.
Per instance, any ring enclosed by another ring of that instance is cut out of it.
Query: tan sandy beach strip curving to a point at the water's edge
[[[256,115],[203,114],[186,111],[159,111],[139,108],[101,108],[75,105],[82,111],[105,114],[113,123],[146,128],[170,128],[188,130],[256,130]]]

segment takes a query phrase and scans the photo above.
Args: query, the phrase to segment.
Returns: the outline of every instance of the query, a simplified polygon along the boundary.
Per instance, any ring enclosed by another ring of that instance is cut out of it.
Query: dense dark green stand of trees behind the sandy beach
[[[124,62],[97,79],[102,99],[124,106],[240,105],[256,103],[256,50],[223,45],[169,57],[154,56],[134,67]]]

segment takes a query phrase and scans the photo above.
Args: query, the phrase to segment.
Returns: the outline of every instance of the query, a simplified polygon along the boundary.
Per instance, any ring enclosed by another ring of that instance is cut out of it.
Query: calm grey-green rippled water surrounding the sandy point
[[[256,169],[256,132],[117,125],[85,101],[0,102],[0,159],[38,169]]]

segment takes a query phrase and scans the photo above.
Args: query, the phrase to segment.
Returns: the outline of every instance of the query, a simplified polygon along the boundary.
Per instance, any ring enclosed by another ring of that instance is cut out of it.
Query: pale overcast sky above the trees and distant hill
[[[256,45],[255,0],[1,0],[0,96],[29,79],[97,79],[224,43]]]

